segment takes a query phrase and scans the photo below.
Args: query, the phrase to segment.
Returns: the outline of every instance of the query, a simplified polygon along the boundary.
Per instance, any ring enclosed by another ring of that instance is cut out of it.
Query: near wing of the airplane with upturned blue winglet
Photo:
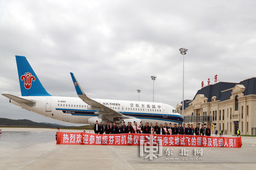
[[[87,103],[88,105],[90,105],[91,107],[89,107],[88,109],[90,110],[97,110],[97,112],[95,114],[99,114],[102,117],[106,117],[106,118],[110,118],[110,117],[122,117],[122,118],[128,118],[128,116],[125,116],[117,111],[114,111],[111,108],[108,108],[105,105],[102,105],[99,102],[96,102],[93,99],[90,99],[88,96],[86,96],[86,94],[84,94],[84,91],[82,90],[81,86],[79,85],[79,82],[77,81],[76,77],[74,76],[73,73],[70,73],[73,83],[75,85],[76,88],[76,93],[79,96],[80,99],[82,99],[85,103]]]

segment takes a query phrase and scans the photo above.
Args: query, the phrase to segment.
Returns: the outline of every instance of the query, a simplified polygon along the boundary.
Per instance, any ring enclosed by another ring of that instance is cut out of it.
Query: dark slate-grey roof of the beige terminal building
[[[225,101],[227,99],[230,99],[231,92],[233,91],[233,88],[236,85],[244,85],[244,96],[250,95],[250,94],[256,94],[256,77],[245,79],[239,83],[233,83],[233,82],[218,82],[213,85],[207,85],[195,94],[197,96],[198,94],[204,94],[205,97],[208,98],[207,102],[212,101],[212,96],[216,96],[216,100]],[[195,99],[195,96],[193,100]],[[184,108],[189,107],[189,103],[192,102],[192,100],[184,100]],[[182,103],[182,102],[181,102]],[[182,108],[181,108],[182,110]]]

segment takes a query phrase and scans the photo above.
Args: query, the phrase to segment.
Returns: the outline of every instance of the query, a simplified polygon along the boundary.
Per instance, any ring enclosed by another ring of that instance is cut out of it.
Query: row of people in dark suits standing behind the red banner
[[[153,126],[151,123],[149,126],[149,122],[146,122],[143,126],[142,122],[140,122],[140,125],[137,125],[137,122],[128,122],[128,125],[125,125],[125,122],[120,124],[118,123],[116,125],[115,122],[105,123],[105,125],[102,125],[102,122],[100,122],[100,125],[98,124],[98,121],[96,121],[96,124],[94,125],[94,133],[97,134],[118,134],[118,133],[145,133],[145,134],[158,134],[158,135],[206,135],[211,136],[211,130],[209,128],[209,125],[207,125],[207,128],[204,128],[204,125],[202,125],[201,129],[196,125],[194,128],[193,125],[187,124],[187,127],[185,124],[174,124],[174,127],[172,127],[172,123],[168,124],[165,123],[165,126],[160,124],[158,126],[158,123],[156,122],[156,125]]]

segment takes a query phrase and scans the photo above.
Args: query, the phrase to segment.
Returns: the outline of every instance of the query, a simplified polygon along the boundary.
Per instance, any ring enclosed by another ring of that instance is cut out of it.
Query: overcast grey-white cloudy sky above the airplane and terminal
[[[0,93],[20,96],[15,55],[25,56],[53,96],[163,102],[176,108],[218,74],[240,82],[256,72],[255,0],[1,0]],[[0,117],[57,121],[0,96]]]

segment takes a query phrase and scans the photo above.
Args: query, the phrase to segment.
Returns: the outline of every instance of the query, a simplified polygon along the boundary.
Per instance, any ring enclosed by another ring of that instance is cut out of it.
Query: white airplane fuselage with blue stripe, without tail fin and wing
[[[177,113],[175,108],[170,105],[157,102],[136,102],[111,99],[93,99],[102,105],[105,105],[114,111],[122,113],[127,118],[110,117],[109,119],[101,118],[97,110],[93,110],[78,97],[61,97],[61,96],[20,96],[23,99],[35,101],[33,105],[24,103],[18,104],[11,100],[17,106],[26,110],[41,114],[70,123],[94,124],[96,120],[103,124],[107,121],[122,123],[140,121],[158,125],[167,123],[182,123],[183,117]]]

